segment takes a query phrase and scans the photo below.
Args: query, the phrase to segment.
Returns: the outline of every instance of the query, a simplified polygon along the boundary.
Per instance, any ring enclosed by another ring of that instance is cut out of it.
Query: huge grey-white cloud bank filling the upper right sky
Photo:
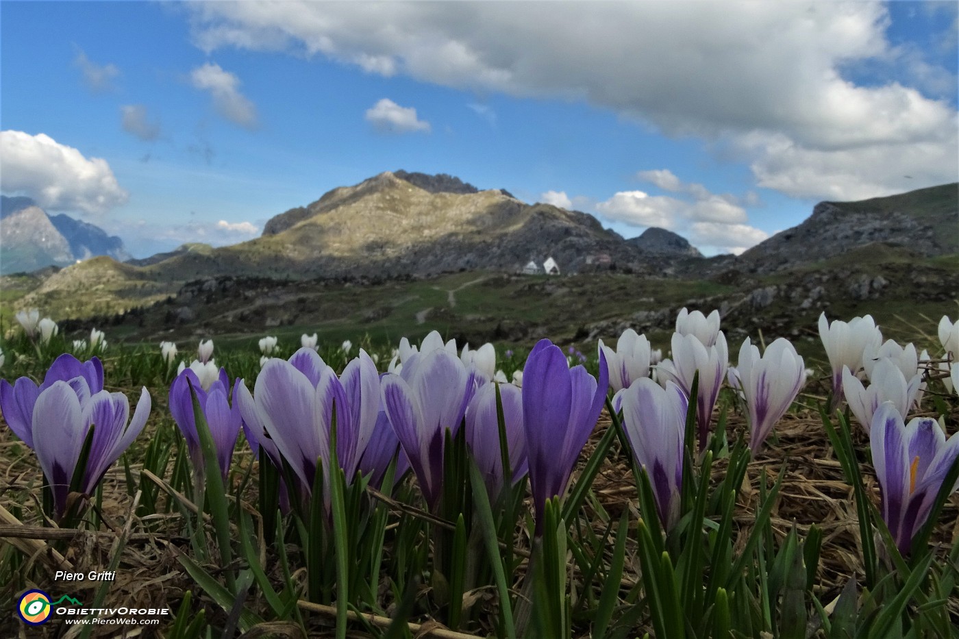
[[[788,194],[895,190],[883,158],[906,145],[929,152],[899,164],[914,186],[957,173],[955,109],[934,99],[954,73],[898,51],[882,3],[251,0],[188,11],[207,51],[292,50],[480,93],[585,100],[667,135],[732,145],[758,179]],[[899,82],[844,76],[865,63]],[[818,154],[823,170],[788,170],[781,140]],[[824,190],[835,166],[848,177]]]

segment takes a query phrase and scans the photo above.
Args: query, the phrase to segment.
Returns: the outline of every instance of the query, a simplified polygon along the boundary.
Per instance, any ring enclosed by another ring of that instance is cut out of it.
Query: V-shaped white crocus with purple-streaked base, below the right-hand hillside
[[[739,388],[749,414],[749,447],[755,454],[806,384],[806,367],[792,343],[779,338],[760,349],[749,338],[739,348]]]

